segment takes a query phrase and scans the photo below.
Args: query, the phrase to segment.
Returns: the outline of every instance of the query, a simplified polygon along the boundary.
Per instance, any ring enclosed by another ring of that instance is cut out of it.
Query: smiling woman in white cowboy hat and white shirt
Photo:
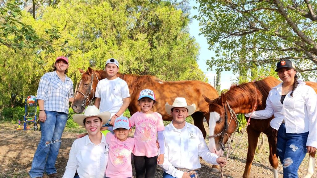
[[[63,178],[103,178],[105,175],[109,145],[100,132],[110,118],[110,112],[99,113],[96,106],[88,106],[85,114],[75,114],[74,121],[84,127],[88,135],[74,141]],[[75,175],[77,171],[78,175]]]

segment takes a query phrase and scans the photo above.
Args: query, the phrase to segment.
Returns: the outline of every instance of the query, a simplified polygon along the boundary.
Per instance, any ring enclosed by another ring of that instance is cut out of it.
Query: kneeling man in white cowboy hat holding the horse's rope
[[[219,164],[221,167],[227,164],[226,159],[209,151],[198,127],[185,121],[195,110],[196,105],[187,105],[185,98],[175,98],[172,105],[165,104],[165,111],[173,120],[163,131],[165,155],[164,163],[159,165],[164,170],[163,178],[197,177],[199,156],[206,162]]]

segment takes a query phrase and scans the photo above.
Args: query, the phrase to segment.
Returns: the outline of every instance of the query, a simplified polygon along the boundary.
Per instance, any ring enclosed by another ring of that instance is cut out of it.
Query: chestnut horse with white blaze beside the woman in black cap
[[[235,117],[235,113],[250,113],[255,108],[255,105],[257,105],[256,110],[265,109],[266,99],[268,97],[269,91],[272,87],[278,85],[279,83],[280,81],[278,79],[274,77],[267,77],[256,82],[249,82],[238,86],[231,86],[230,90],[228,90],[226,93],[221,94],[220,97],[214,100],[208,99],[208,97],[204,96],[205,100],[209,103],[210,112],[210,151],[221,155],[223,153],[223,143],[226,143],[228,141],[228,137],[230,138],[231,134],[233,134],[236,130],[237,118]],[[315,92],[317,93],[317,83],[306,82],[306,84],[313,87]],[[261,132],[263,132],[268,137],[268,159],[271,166],[273,167],[274,177],[278,177],[278,160],[275,155],[277,130],[272,129],[272,127],[270,126],[270,121],[272,119],[273,117],[264,120],[250,120],[250,125],[247,127],[249,147],[243,178],[250,177],[251,164]],[[310,178],[314,173],[314,157],[315,152],[311,153],[309,156],[308,170],[305,178]]]

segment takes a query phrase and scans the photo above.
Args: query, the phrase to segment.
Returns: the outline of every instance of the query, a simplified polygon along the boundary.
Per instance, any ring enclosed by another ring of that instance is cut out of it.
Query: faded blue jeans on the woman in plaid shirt
[[[45,111],[45,113],[45,122],[40,122],[41,140],[37,145],[29,172],[31,178],[42,177],[44,171],[47,175],[56,173],[55,162],[67,122],[68,114],[64,112]]]

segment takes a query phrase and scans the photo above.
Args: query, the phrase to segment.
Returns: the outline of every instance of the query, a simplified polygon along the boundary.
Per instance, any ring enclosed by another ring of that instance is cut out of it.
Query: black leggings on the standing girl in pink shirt
[[[136,178],[155,178],[158,156],[133,156]]]

